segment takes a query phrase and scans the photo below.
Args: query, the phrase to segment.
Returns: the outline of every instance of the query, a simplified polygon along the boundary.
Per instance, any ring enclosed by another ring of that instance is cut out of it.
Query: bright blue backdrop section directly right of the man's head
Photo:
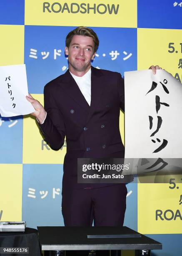
[[[137,28],[92,28],[100,41],[93,66],[120,72],[137,70]]]

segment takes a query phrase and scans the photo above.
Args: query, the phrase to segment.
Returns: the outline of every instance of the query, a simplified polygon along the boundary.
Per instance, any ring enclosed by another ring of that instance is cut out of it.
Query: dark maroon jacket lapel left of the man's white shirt
[[[69,69],[67,72],[62,75],[61,81],[64,86],[62,88],[65,90],[65,92],[73,99],[77,104],[79,104],[82,108],[85,108],[87,111],[89,111],[90,106],[88,105],[87,101],[85,100],[85,97],[82,95],[82,92],[80,91],[80,88],[78,87],[77,83],[75,82],[75,79],[72,77],[72,75],[69,72]]]

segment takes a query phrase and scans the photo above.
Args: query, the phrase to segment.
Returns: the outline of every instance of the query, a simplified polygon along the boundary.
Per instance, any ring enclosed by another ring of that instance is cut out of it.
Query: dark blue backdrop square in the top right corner
[[[182,28],[181,0],[138,0],[137,5],[138,28]]]

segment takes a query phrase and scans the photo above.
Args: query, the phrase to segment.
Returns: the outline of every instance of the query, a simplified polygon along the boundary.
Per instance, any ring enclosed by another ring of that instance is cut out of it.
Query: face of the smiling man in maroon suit
[[[94,41],[92,37],[73,36],[69,48],[65,48],[65,54],[68,55],[70,71],[82,72],[89,69],[91,60],[95,57],[93,49]]]

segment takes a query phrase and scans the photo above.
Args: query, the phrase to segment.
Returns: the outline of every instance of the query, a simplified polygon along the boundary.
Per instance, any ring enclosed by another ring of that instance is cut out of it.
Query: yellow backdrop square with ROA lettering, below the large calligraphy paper
[[[138,184],[138,232],[180,234],[182,231],[181,194],[182,183]]]

